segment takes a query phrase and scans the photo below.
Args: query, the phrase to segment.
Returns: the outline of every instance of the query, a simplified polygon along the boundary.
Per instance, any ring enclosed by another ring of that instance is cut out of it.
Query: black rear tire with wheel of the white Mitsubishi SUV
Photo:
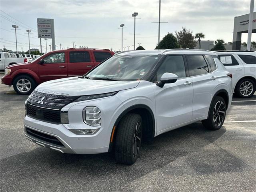
[[[218,110],[219,105],[217,103],[220,104],[219,110]],[[216,113],[215,106],[217,108],[217,113]],[[224,111],[224,117],[222,118],[221,116],[223,114],[222,113],[223,111]],[[214,120],[214,117],[215,117],[215,120]],[[202,120],[202,124],[207,129],[218,130],[222,127],[225,117],[226,117],[226,103],[222,97],[216,96],[213,99],[212,104],[210,106],[208,119]]]

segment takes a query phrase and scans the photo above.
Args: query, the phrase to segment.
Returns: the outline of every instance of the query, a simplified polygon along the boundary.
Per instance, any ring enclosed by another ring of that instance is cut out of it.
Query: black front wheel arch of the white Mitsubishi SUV
[[[108,151],[111,151],[112,148],[114,147],[116,131],[118,129],[118,124],[120,120],[128,113],[140,114],[140,116],[142,117],[142,123],[146,125],[146,126],[143,126],[143,132],[146,131],[147,133],[142,136],[143,138],[146,138],[146,139],[154,138],[155,131],[156,131],[154,113],[152,112],[151,108],[148,107],[147,105],[136,104],[124,110],[116,119],[116,122],[114,123],[114,126],[112,128]]]

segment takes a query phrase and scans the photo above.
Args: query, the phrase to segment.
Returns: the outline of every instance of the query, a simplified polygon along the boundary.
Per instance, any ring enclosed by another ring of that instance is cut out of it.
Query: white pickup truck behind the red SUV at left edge
[[[17,64],[17,63],[25,63],[29,62],[30,58],[22,57],[22,58],[12,58],[11,54],[8,52],[0,52],[0,70],[4,70],[9,65]]]

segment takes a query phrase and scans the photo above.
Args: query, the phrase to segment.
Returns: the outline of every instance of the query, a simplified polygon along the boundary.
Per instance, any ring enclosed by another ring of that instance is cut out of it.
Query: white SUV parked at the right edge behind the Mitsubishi
[[[256,52],[215,51],[215,53],[233,75],[233,92],[241,98],[253,96],[256,88]]]

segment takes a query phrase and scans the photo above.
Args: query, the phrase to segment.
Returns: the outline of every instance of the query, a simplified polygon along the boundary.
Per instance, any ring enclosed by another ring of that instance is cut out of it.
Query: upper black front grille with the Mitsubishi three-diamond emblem
[[[78,96],[62,96],[33,91],[27,102],[27,115],[44,122],[60,124],[60,110]]]

